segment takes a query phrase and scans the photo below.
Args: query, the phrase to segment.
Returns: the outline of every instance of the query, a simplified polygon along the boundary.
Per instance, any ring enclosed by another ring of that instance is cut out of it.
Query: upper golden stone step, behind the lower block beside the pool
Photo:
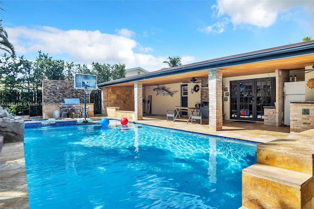
[[[257,163],[313,175],[313,153],[314,140],[278,139],[257,146]]]

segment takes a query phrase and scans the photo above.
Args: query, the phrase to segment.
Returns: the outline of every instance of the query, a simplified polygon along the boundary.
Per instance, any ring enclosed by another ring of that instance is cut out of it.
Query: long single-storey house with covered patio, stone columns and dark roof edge
[[[309,103],[304,108],[311,109],[314,87],[308,84],[314,78],[313,69],[314,41],[308,41],[121,78],[98,87],[103,90],[104,113],[108,116],[141,120],[143,113],[165,115],[174,106],[201,104],[209,112],[209,129],[219,131],[223,119],[264,121],[269,107],[272,115],[267,122],[283,126],[285,82],[290,77],[293,82],[305,81]],[[157,87],[176,93],[162,96],[154,91]],[[148,96],[152,97],[150,112]],[[314,127],[312,123],[307,129]]]

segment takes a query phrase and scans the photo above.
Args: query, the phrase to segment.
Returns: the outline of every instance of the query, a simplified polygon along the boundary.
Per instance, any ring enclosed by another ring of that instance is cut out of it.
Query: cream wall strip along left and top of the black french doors
[[[224,87],[228,87],[227,92],[229,92],[228,102],[223,102],[224,103],[225,119],[230,120],[230,81],[255,79],[255,78],[270,78],[270,77],[276,77],[276,74],[275,73],[266,73],[266,74],[251,75],[251,76],[237,76],[237,77],[222,78],[222,85]],[[223,92],[224,97],[225,97],[225,93],[226,92]]]

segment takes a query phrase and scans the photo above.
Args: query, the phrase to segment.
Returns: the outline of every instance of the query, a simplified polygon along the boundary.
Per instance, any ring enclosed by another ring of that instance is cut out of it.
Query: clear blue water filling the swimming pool
[[[256,144],[111,121],[29,128],[31,209],[238,209]]]

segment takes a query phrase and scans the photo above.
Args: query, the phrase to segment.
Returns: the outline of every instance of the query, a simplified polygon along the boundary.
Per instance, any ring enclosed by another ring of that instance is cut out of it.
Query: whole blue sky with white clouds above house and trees
[[[314,0],[2,0],[17,56],[157,71],[314,39]]]

